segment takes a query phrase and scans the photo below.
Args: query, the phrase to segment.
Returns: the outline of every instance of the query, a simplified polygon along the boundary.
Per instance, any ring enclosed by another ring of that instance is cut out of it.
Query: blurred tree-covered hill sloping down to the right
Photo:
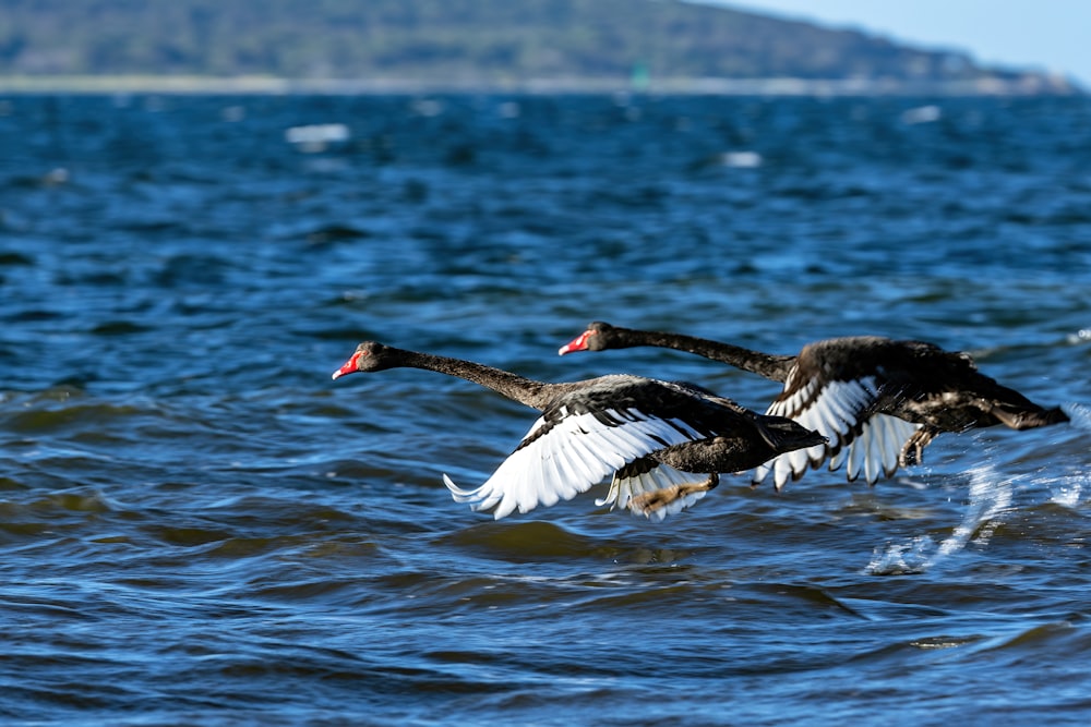
[[[0,74],[1064,86],[681,0],[0,0]]]

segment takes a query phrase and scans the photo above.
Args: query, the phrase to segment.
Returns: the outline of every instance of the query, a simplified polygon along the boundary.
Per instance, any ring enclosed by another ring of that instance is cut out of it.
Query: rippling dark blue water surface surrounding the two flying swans
[[[5,725],[1086,725],[1091,100],[0,98]],[[1074,422],[494,521],[594,319],[966,350]]]

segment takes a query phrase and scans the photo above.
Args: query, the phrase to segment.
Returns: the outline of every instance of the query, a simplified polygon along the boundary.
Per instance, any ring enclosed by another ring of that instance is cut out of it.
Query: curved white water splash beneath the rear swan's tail
[[[918,535],[909,543],[888,543],[875,548],[864,572],[872,575],[923,573],[964,548],[971,538],[979,544],[988,542],[1002,522],[999,517],[1011,506],[1016,477],[998,477],[991,464],[974,468],[969,475],[966,512],[950,535],[938,544],[927,535]]]

